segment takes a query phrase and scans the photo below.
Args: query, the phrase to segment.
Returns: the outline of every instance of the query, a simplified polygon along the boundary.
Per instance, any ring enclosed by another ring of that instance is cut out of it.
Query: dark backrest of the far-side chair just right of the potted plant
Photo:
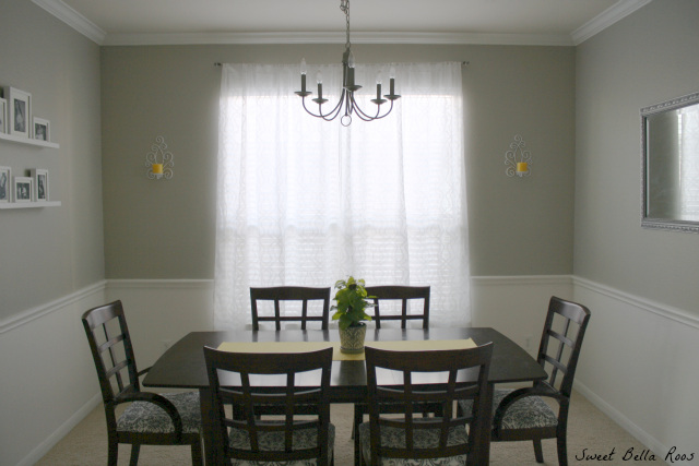
[[[399,285],[386,285],[386,286],[367,286],[367,296],[376,296],[374,299],[374,315],[372,320],[376,321],[376,327],[381,328],[382,321],[401,321],[401,328],[405,328],[407,321],[422,320],[423,328],[429,326],[429,286],[399,286]],[[423,312],[418,314],[407,313],[407,300],[408,299],[423,299]],[[380,301],[400,300],[401,313],[400,314],[383,314],[381,315]],[[369,309],[367,309],[368,312]]]

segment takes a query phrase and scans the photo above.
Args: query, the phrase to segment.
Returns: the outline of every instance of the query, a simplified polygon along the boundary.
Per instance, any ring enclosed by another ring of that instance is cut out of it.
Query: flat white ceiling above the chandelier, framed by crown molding
[[[33,0],[100,45],[344,43],[340,0]],[[354,0],[353,41],[576,45],[651,0]]]

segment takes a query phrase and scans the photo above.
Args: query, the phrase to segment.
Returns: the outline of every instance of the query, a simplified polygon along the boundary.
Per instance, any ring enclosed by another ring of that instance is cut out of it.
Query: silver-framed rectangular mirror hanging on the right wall
[[[641,109],[643,228],[699,232],[699,93]]]

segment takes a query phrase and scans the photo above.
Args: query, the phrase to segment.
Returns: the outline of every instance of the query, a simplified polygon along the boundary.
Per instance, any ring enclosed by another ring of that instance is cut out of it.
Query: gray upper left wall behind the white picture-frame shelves
[[[60,207],[0,211],[0,321],[104,278],[99,47],[27,0],[0,2],[0,86],[32,94],[59,150],[0,141],[13,176],[49,170]]]

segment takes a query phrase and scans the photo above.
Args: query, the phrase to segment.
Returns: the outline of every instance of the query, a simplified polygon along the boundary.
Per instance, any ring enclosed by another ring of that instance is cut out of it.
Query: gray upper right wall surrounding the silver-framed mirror
[[[655,0],[578,47],[574,273],[699,314],[699,235],[641,228],[640,109],[699,91],[699,2]]]

